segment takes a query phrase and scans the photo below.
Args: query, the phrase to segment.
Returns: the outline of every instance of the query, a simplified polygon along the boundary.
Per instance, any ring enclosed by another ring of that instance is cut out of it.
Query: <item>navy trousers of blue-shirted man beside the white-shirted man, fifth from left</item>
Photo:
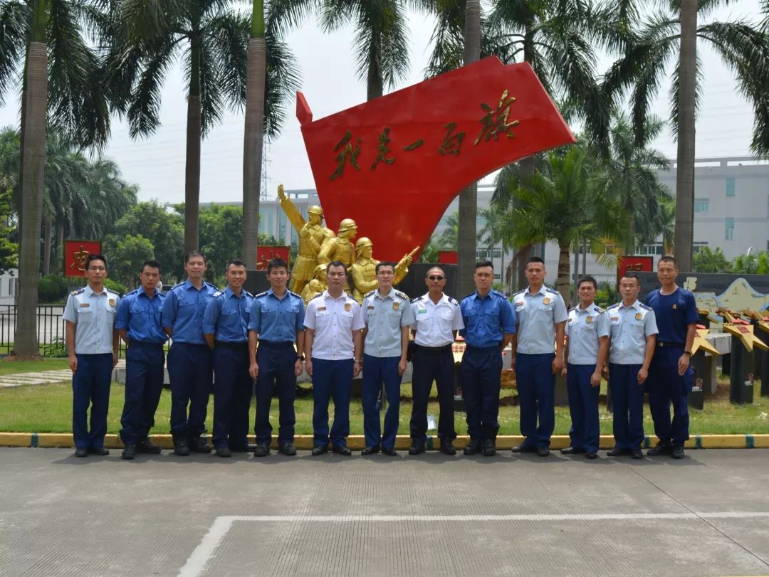
[[[256,381],[256,419],[254,433],[257,443],[270,443],[272,425],[270,424],[270,404],[272,392],[278,390],[278,443],[294,442],[296,415],[296,350],[294,343],[267,343],[261,341],[256,351],[256,363],[259,375]],[[276,386],[277,385],[277,386]]]

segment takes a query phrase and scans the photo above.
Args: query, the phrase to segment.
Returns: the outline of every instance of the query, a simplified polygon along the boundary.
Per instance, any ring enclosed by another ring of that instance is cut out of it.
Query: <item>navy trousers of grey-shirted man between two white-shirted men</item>
[[[398,435],[401,410],[401,376],[398,375],[400,356],[363,355],[363,434],[366,446],[382,446],[394,449]],[[384,433],[379,423],[379,391],[384,385],[387,396],[387,412],[384,413]]]

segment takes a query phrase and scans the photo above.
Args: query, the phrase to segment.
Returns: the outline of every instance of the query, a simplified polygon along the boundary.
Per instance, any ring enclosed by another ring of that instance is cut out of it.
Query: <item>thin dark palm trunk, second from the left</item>
[[[187,98],[187,158],[185,159],[185,254],[198,250],[198,213],[200,211],[200,38],[190,46],[190,90]]]

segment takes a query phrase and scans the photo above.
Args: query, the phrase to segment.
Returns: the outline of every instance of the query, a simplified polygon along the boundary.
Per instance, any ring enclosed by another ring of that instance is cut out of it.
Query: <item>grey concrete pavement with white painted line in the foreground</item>
[[[769,452],[0,449],[2,575],[767,575]]]

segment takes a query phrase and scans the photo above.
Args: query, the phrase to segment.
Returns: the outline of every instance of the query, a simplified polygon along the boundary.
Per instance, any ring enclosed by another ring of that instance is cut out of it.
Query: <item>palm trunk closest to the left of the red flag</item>
[[[254,0],[251,12],[251,39],[248,41],[243,135],[243,259],[246,268],[256,267],[259,241],[259,189],[265,141],[266,70],[265,5],[263,0]]]

